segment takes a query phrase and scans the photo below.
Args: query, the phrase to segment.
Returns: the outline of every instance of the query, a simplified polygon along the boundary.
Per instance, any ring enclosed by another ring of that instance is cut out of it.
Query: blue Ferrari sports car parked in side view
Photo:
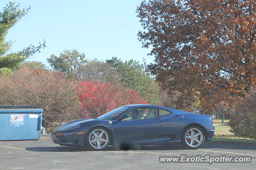
[[[213,134],[210,116],[157,105],[122,106],[97,118],[71,121],[51,133],[54,143],[90,150],[126,144],[182,144],[198,149]]]

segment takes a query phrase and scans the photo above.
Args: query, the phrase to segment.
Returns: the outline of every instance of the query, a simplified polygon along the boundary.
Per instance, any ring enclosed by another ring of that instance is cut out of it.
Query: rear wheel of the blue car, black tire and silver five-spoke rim
[[[191,129],[193,131],[193,134],[191,136],[191,138],[186,138],[186,136],[190,136],[191,135]],[[189,132],[190,131],[190,132]],[[198,136],[194,136],[198,133]],[[194,137],[194,138],[193,138]],[[195,139],[196,138],[196,139]],[[192,140],[192,145],[191,145],[191,140]],[[200,143],[196,142],[195,140],[198,140]],[[196,125],[192,125],[189,127],[186,127],[183,132],[182,132],[182,137],[181,137],[181,144],[188,149],[198,149],[200,147],[202,147],[204,145],[204,141],[205,141],[205,134],[204,134],[204,130]]]

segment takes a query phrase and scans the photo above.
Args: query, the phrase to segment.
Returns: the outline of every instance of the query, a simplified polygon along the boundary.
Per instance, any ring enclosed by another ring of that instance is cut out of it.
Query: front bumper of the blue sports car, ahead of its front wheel
[[[56,144],[62,146],[84,146],[86,132],[82,132],[82,134],[78,134],[78,132],[52,132],[51,135],[52,141]]]

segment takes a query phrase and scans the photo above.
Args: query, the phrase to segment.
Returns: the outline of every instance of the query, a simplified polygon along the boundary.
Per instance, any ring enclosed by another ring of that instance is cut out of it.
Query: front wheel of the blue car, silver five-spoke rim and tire
[[[85,145],[90,150],[105,150],[110,142],[110,134],[106,128],[95,127],[87,132]]]

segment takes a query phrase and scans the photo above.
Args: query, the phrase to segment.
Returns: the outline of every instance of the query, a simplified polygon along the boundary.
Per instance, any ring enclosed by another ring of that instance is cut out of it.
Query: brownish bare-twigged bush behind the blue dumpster
[[[56,128],[79,118],[76,82],[51,70],[24,66],[7,77],[0,76],[0,105],[36,105],[44,109],[46,128]]]

